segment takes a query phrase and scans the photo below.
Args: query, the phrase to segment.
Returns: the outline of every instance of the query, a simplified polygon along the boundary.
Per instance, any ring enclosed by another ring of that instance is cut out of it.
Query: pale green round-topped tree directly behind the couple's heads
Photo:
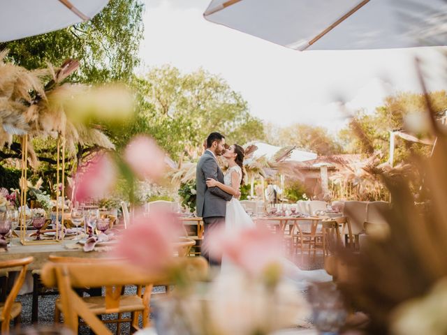
[[[226,135],[228,143],[263,139],[263,124],[242,96],[203,69],[183,74],[172,66],[153,68],[133,85],[139,111],[126,133],[151,134],[173,158],[200,149],[212,131]]]

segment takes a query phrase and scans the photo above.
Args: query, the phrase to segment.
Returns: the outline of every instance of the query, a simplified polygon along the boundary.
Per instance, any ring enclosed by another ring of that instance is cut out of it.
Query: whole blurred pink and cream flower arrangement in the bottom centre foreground
[[[153,301],[157,334],[266,335],[307,325],[309,305],[283,279],[281,240],[268,230],[249,228],[240,234],[214,231],[203,247],[233,262],[233,271],[194,278],[174,256],[181,223],[169,213],[137,215],[117,246],[117,256],[149,273],[163,273],[175,290]],[[196,259],[196,258],[191,258]],[[206,315],[206,316],[205,316]]]

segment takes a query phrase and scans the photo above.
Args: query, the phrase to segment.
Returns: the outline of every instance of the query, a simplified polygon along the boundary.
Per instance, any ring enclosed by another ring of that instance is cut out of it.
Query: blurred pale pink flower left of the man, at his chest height
[[[124,151],[124,160],[140,179],[156,181],[163,176],[165,153],[155,140],[145,135],[133,137]]]

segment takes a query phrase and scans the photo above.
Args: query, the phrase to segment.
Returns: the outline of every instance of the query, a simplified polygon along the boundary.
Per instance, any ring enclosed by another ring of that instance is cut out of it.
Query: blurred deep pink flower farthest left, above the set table
[[[75,176],[75,200],[103,198],[115,186],[117,170],[107,154],[99,154]]]

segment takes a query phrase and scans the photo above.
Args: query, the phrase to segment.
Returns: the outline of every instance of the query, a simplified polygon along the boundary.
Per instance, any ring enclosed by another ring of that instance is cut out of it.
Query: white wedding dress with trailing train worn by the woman
[[[242,170],[238,165],[229,168],[224,176],[224,184],[231,186],[231,173],[235,171],[239,175],[239,183],[242,180]],[[247,214],[242,207],[242,204],[236,198],[232,198],[230,201],[226,202],[226,216],[225,216],[225,229],[232,233],[237,233],[237,230],[243,228],[254,227],[255,224],[251,217]],[[282,265],[284,267],[284,272],[286,278],[293,281],[302,290],[307,288],[307,285],[312,282],[326,282],[332,281],[332,276],[328,274],[324,269],[318,270],[302,270],[297,267],[293,262],[284,258],[282,260]],[[221,274],[228,273],[232,271],[233,265],[230,264],[225,255],[223,255],[221,263]]]

